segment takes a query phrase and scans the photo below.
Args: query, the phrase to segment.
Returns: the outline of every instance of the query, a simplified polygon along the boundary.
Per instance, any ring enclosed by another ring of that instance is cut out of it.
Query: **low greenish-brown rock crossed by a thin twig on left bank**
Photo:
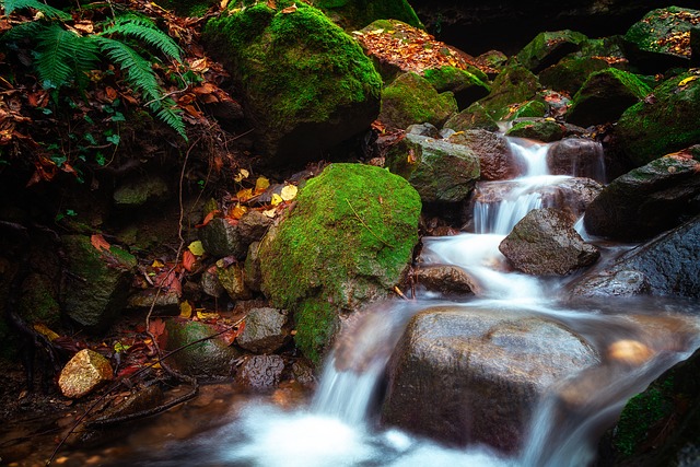
[[[162,348],[166,351],[179,349],[197,340],[217,334],[213,326],[200,322],[167,319]],[[173,353],[167,363],[182,373],[192,376],[231,376],[235,360],[241,352],[230,347],[220,337],[202,340],[201,342],[184,347]]]

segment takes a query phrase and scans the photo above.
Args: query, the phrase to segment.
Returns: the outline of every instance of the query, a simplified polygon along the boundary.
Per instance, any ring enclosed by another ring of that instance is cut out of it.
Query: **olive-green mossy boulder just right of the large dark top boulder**
[[[439,94],[428,80],[417,73],[400,74],[382,92],[380,121],[390,128],[412,124],[442,125],[457,112],[451,92]]]

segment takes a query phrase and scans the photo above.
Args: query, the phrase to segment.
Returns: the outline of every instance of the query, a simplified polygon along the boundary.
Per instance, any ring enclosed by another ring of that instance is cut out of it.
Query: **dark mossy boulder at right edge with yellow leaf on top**
[[[653,98],[634,104],[620,117],[619,148],[637,166],[700,141],[700,73],[689,71],[654,89]]]

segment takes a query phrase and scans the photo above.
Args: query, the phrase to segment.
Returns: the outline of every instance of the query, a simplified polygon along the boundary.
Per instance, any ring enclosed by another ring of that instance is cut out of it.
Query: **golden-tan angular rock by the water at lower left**
[[[58,387],[63,396],[77,399],[92,393],[112,377],[109,361],[94,350],[83,349],[61,370]]]

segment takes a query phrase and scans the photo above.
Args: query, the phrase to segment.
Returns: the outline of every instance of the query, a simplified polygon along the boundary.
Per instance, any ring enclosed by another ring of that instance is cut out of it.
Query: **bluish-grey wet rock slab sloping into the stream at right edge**
[[[665,233],[626,253],[603,272],[582,279],[574,284],[579,295],[652,294],[700,297],[700,218]],[[622,287],[617,280],[622,280]],[[611,280],[615,280],[610,283]],[[629,287],[625,282],[631,281]],[[598,289],[597,283],[610,290]]]

